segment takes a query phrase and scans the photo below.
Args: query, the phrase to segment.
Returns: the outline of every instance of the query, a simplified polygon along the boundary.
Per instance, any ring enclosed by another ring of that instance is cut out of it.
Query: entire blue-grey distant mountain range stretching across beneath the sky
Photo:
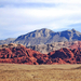
[[[6,40],[0,40],[0,44],[21,43],[29,46],[37,44],[54,43],[59,41],[81,41],[81,32],[75,29],[54,32],[53,30],[42,28],[28,32],[26,35],[22,35],[15,39],[10,38]]]

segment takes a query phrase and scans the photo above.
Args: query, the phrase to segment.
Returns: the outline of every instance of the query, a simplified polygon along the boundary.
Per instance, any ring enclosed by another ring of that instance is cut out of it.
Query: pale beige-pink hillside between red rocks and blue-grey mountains
[[[32,49],[35,51],[48,54],[52,51],[59,50],[62,48],[67,49],[81,49],[81,41],[71,41],[71,42],[54,42],[50,44],[38,44],[38,45],[30,45],[27,46],[28,49]]]

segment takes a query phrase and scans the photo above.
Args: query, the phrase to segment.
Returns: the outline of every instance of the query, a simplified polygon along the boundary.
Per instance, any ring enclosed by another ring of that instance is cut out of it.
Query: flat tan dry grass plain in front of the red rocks
[[[81,81],[81,65],[0,64],[0,81]]]

